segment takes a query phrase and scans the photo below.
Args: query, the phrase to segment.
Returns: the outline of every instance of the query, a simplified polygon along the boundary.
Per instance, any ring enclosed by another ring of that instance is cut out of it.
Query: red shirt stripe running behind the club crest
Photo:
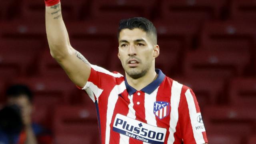
[[[163,102],[168,102],[169,104],[171,104],[171,88],[172,88],[172,80],[168,79],[167,77],[164,78],[163,82],[160,84],[159,88],[158,88],[158,92],[156,95],[156,101],[163,101]],[[166,136],[165,136],[165,140],[164,140],[164,144],[167,144],[167,140],[169,137],[169,128],[170,128],[170,112],[171,112],[172,108],[169,105],[169,111],[168,111],[168,116],[166,116],[165,118],[158,118],[157,116],[156,118],[156,125],[160,128],[166,128]],[[164,117],[164,109],[162,112],[162,117]]]

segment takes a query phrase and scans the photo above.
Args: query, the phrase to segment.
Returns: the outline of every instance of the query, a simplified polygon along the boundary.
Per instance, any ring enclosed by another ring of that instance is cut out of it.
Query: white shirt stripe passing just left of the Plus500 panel
[[[108,97],[108,108],[107,108],[107,118],[106,118],[106,138],[105,144],[109,144],[110,139],[110,124],[114,113],[114,108],[118,100],[118,94],[123,92],[126,89],[124,81],[120,85],[114,86],[110,95]]]

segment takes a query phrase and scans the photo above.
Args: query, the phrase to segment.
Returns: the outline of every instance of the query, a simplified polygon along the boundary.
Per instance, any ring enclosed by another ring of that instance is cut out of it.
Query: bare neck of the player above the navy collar
[[[151,68],[144,76],[138,79],[133,79],[126,74],[126,80],[130,86],[136,90],[141,90],[157,78],[155,69]]]

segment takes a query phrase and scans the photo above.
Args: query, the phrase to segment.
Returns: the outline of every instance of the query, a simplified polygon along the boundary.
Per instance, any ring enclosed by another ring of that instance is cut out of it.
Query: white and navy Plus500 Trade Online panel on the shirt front
[[[164,144],[164,138],[166,136],[165,128],[151,126],[121,114],[116,115],[113,130],[148,144]]]

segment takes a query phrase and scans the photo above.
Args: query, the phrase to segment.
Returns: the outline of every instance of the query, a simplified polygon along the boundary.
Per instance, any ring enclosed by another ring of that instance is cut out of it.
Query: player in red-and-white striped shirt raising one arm
[[[160,49],[152,22],[146,18],[120,22],[118,58],[124,77],[90,64],[72,48],[60,0],[45,3],[51,55],[95,102],[103,144],[207,143],[192,90],[155,70]]]

